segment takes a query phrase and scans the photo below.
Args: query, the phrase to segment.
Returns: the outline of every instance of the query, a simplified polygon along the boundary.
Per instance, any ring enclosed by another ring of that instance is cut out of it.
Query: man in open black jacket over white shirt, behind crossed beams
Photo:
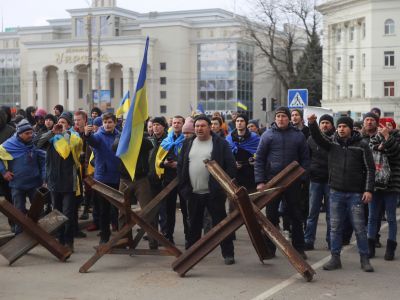
[[[231,177],[236,164],[227,141],[211,132],[211,121],[205,115],[194,121],[195,136],[186,139],[178,157],[179,194],[187,200],[189,233],[187,248],[201,238],[204,209],[211,215],[213,226],[226,217],[226,195],[204,166],[205,159],[216,161]],[[235,263],[232,236],[221,243],[225,264]]]

